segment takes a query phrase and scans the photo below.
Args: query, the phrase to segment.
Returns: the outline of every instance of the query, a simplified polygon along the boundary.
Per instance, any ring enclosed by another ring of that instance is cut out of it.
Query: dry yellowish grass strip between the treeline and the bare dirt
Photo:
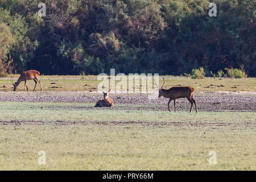
[[[18,80],[19,75],[11,75],[11,77],[0,78],[0,92],[12,91],[13,85],[11,81]],[[165,86],[193,86],[196,91],[256,91],[256,78],[204,78],[191,79],[189,77],[180,76],[159,76],[159,85],[163,84],[162,77],[166,78]],[[97,76],[40,76],[44,91],[96,91],[97,85],[101,82],[97,80]],[[118,81],[116,81],[118,82]],[[28,80],[28,90],[34,89],[35,82]],[[128,85],[128,84],[127,84]],[[127,87],[128,88],[128,87]],[[24,89],[24,82],[18,86],[18,91]],[[36,90],[40,90],[39,84]]]

